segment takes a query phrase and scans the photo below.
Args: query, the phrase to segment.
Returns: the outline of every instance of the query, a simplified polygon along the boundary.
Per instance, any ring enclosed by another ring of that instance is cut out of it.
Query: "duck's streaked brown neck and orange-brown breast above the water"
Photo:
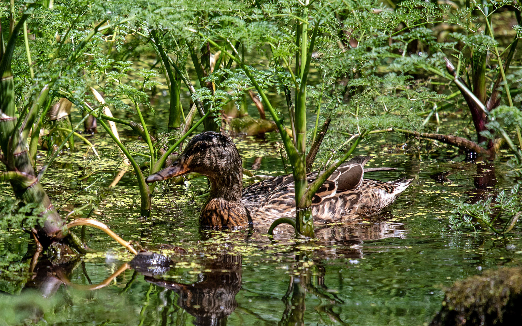
[[[239,165],[207,175],[210,194],[199,216],[201,226],[217,230],[248,226],[250,215],[241,200],[242,174],[243,169]]]

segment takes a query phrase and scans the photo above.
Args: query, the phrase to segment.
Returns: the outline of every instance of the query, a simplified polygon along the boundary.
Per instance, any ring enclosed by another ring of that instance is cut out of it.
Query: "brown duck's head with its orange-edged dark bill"
[[[241,158],[232,140],[219,132],[206,131],[192,138],[172,165],[149,175],[145,181],[151,183],[191,172],[216,180],[238,171],[241,177]]]

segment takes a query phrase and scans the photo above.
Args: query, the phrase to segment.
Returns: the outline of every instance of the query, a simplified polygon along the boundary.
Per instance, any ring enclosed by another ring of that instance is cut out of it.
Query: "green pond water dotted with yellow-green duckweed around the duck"
[[[262,157],[256,174],[282,174],[277,139],[235,138],[244,167]],[[54,267],[43,257],[35,273],[0,271],[0,325],[427,325],[441,307],[444,287],[485,269],[520,265],[522,259],[519,224],[505,238],[458,234],[448,227],[451,207],[445,199],[473,202],[513,184],[506,158],[466,163],[452,148],[426,150],[418,140],[404,146],[401,136],[375,137],[356,154],[376,155],[367,167],[397,170],[367,177],[415,178],[390,211],[324,227],[312,242],[271,243],[260,234],[200,232],[205,199],[196,196],[205,192],[204,179],[158,186],[152,217],[141,219],[131,168],[109,152],[103,134],[94,142],[108,158],[90,161],[85,149],[61,155],[43,180],[51,200],[62,203],[80,184],[93,182],[93,175],[109,174],[92,186],[98,189],[126,171],[92,216],[124,239],[161,251],[174,267],[161,275],[126,269],[133,257],[87,228],[92,250],[83,257]],[[434,174],[447,182],[436,182]],[[9,185],[1,184],[0,196],[9,195]],[[67,201],[61,213],[74,204]],[[0,249],[23,257],[31,244],[20,231]],[[104,280],[106,286],[88,289]]]

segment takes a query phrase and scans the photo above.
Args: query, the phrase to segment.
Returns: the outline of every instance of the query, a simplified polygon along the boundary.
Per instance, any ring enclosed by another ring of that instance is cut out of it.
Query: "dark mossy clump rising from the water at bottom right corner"
[[[501,268],[455,282],[431,325],[515,325],[521,318],[522,268]]]

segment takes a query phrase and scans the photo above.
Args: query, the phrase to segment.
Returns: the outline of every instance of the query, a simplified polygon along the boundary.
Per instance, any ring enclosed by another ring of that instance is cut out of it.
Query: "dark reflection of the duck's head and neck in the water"
[[[145,276],[145,280],[177,293],[177,304],[194,316],[194,325],[226,325],[228,316],[238,306],[235,295],[241,289],[241,256],[218,256],[208,261],[204,270],[200,281],[192,284],[152,276]]]

